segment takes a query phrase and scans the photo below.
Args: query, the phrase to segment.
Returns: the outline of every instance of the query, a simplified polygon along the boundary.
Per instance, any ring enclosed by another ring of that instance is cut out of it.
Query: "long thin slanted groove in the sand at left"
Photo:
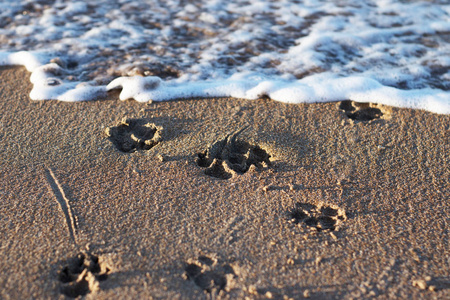
[[[72,207],[70,207],[69,199],[66,197],[64,190],[53,173],[52,169],[47,168],[47,180],[50,184],[50,187],[53,190],[53,194],[55,195],[56,201],[58,202],[61,210],[63,211],[66,217],[67,227],[69,229],[70,237],[72,238],[75,245],[77,245],[76,233],[77,233],[77,224],[75,218],[73,217]]]

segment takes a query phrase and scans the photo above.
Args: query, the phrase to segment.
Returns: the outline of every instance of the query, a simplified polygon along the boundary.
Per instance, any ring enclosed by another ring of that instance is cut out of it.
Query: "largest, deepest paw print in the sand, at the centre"
[[[206,168],[206,175],[229,179],[233,174],[247,172],[251,165],[258,168],[270,165],[270,155],[265,150],[237,139],[243,130],[226,136],[208,150],[198,153],[196,162]]]

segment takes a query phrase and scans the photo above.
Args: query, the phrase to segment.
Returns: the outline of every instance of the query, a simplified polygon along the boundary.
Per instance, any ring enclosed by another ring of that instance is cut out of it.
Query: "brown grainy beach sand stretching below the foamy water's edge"
[[[28,78],[0,70],[1,299],[449,299],[450,116],[35,102]],[[118,151],[106,129],[124,117],[159,143]],[[242,128],[270,165],[206,175],[198,153]]]

